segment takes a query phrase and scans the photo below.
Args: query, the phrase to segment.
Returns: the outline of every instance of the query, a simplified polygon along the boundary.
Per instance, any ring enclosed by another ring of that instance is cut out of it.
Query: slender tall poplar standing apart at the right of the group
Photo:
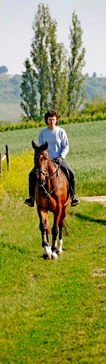
[[[86,85],[83,83],[85,76],[82,74],[83,66],[85,66],[85,48],[82,47],[82,34],[81,22],[73,11],[72,25],[70,26],[70,49],[71,55],[69,56],[69,81],[68,81],[68,116],[70,117],[71,112],[76,112],[81,106],[85,95]]]

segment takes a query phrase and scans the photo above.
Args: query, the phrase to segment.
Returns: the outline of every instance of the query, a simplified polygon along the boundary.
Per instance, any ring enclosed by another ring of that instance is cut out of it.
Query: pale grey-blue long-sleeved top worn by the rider
[[[50,158],[55,159],[61,154],[62,158],[66,157],[69,152],[69,141],[66,131],[60,127],[49,129],[49,127],[40,131],[38,143],[41,146],[47,141]]]

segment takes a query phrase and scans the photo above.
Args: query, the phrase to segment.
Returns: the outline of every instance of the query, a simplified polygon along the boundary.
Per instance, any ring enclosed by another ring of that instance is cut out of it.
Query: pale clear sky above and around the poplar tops
[[[69,27],[75,10],[83,30],[86,66],[83,74],[106,77],[106,0],[0,0],[0,66],[8,74],[22,74],[30,58],[33,20],[38,4],[49,6],[57,20],[57,40],[69,51]]]

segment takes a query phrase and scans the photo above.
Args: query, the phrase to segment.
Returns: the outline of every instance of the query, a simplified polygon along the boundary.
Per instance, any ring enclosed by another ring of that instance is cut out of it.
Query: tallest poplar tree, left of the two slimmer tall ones
[[[48,20],[48,6],[45,7],[44,4],[39,4],[33,22],[34,37],[31,57],[37,77],[37,89],[40,93],[40,113],[48,106],[49,95]]]

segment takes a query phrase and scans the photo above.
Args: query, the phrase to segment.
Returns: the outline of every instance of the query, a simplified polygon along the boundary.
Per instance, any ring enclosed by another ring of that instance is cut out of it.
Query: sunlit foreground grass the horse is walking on
[[[69,206],[56,262],[42,259],[36,208],[6,198],[1,221],[0,363],[105,364],[104,207]]]

